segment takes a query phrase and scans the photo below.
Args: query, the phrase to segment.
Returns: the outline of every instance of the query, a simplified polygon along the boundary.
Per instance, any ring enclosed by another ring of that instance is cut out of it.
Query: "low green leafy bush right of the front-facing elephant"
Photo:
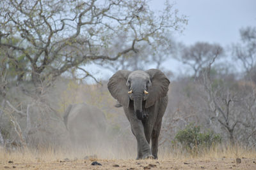
[[[220,134],[213,131],[200,132],[200,126],[191,123],[185,129],[177,132],[175,140],[190,153],[198,152],[200,148],[210,148],[217,143],[221,143]]]

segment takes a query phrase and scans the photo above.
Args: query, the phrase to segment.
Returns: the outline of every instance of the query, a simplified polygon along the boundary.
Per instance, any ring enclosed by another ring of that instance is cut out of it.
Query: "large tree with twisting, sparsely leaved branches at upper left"
[[[136,52],[139,42],[157,40],[161,36],[155,34],[180,29],[186,22],[168,3],[157,17],[147,1],[132,0],[3,0],[0,10],[0,46],[8,49],[8,59],[28,61],[28,67],[19,69],[31,75],[35,87],[90,60],[116,60]],[[120,34],[129,37],[120,42],[122,49],[104,53]]]

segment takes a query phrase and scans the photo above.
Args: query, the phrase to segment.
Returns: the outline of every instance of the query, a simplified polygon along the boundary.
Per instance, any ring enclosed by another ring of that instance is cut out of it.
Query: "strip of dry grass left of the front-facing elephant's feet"
[[[95,156],[96,155],[96,156]],[[0,148],[0,162],[7,160],[19,160],[20,162],[34,162],[40,160],[51,162],[52,160],[63,159],[84,159],[84,157],[97,157],[98,159],[134,159],[135,152],[131,150],[115,150],[112,147],[100,148],[20,148],[16,150],[5,150]]]

